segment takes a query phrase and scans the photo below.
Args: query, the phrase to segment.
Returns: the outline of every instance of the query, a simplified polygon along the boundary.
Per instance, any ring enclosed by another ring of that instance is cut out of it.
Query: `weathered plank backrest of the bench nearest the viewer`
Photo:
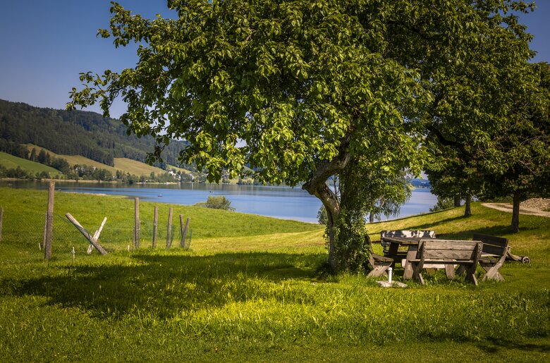
[[[417,259],[422,260],[456,260],[475,262],[479,260],[482,242],[463,240],[421,240],[418,246]]]

